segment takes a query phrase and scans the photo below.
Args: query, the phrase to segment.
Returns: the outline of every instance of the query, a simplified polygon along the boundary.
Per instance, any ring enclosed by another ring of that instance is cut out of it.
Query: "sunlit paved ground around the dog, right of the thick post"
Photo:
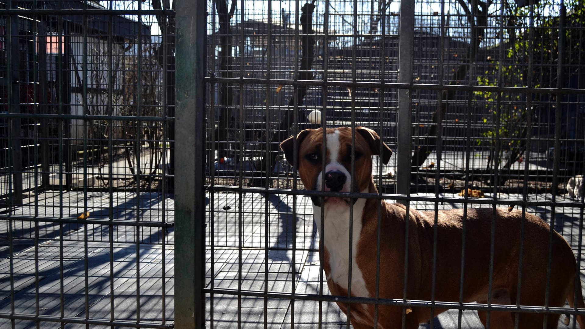
[[[236,211],[240,203],[241,216]],[[266,204],[265,198],[253,194],[242,194],[241,197],[238,194],[216,194],[212,205],[214,217],[208,218],[208,228],[209,236],[213,237],[214,241],[214,253],[208,252],[209,288],[213,286],[221,289],[238,289],[238,285],[241,285],[242,290],[291,293],[294,289],[295,293],[300,294],[318,294],[322,289],[324,294],[329,294],[326,284],[321,285],[319,279],[318,253],[302,250],[315,248],[318,243],[312,225],[312,207],[307,198],[298,198],[294,207],[296,217],[291,214],[293,203],[290,196],[271,196]],[[431,210],[434,204],[419,202],[412,203],[412,206]],[[462,205],[440,204],[439,207],[456,208]],[[550,217],[550,209],[547,208],[529,211],[539,213],[544,218]],[[556,217],[557,229],[563,232],[576,250],[579,213],[576,208],[574,210],[565,208],[562,211],[564,213]],[[211,228],[214,229],[213,234]],[[240,244],[238,234],[240,231],[243,248],[233,249]],[[264,248],[266,241],[271,247],[269,251]],[[290,250],[293,247],[297,249],[294,253]],[[584,272],[583,268],[581,272]],[[211,280],[211,277],[214,277],[214,280]],[[241,309],[238,305],[241,305]],[[215,294],[213,303],[208,300],[207,310],[208,325],[213,323],[215,328],[236,328],[238,319],[245,328],[264,328],[264,323],[267,323],[269,328],[290,328],[291,324],[294,324],[295,328],[316,328],[319,320],[322,328],[346,327],[344,314],[340,313],[334,303],[328,302],[302,300],[291,302],[263,297],[238,299],[233,295]],[[443,313],[435,318],[435,328],[456,328],[458,317],[455,310]],[[428,327],[428,324],[420,326]],[[477,313],[464,311],[462,328],[482,328]],[[565,328],[565,325],[559,323],[559,328]]]

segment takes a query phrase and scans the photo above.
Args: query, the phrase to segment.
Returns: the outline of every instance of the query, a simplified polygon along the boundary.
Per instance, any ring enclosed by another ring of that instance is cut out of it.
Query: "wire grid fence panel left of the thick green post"
[[[168,327],[174,12],[0,8],[0,327]]]

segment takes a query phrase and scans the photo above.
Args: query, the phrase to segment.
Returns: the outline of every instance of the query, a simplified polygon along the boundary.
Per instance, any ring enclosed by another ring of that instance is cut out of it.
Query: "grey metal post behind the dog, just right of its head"
[[[398,83],[412,83],[412,49],[414,45],[414,1],[400,2],[400,40],[398,42]],[[412,118],[409,104],[411,91],[398,90],[398,145],[397,181],[398,194],[410,189],[410,162]]]

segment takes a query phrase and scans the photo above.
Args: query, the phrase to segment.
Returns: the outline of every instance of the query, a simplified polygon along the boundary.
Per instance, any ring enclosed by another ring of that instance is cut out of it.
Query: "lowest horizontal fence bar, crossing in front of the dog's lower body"
[[[539,314],[585,314],[585,309],[569,309],[565,307],[539,307],[528,305],[503,305],[503,304],[480,304],[480,303],[453,303],[449,301],[425,301],[407,299],[374,299],[366,297],[347,297],[335,295],[319,294],[301,294],[279,293],[279,292],[253,292],[248,290],[236,289],[204,289],[205,293],[212,294],[229,294],[233,296],[249,297],[267,297],[277,299],[295,299],[295,300],[314,300],[314,301],[335,301],[340,303],[352,304],[378,304],[391,306],[412,306],[412,307],[434,307],[438,309],[456,309],[456,310],[480,310],[480,311],[513,311],[519,313],[539,313]]]

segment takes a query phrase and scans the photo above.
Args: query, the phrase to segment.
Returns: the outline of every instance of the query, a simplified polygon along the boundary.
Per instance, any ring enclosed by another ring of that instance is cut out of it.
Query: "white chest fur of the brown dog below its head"
[[[352,266],[352,295],[369,297],[364,282],[362,270],[357,266],[357,242],[362,232],[362,214],[366,199],[358,199],[353,205],[353,227],[349,223],[349,207],[337,204],[325,204],[324,228],[321,228],[321,207],[313,206],[315,224],[319,230],[319,237],[329,252],[329,266],[331,272],[327,279],[333,280],[343,289],[347,289],[349,266]],[[349,255],[350,237],[352,229],[352,255]]]

